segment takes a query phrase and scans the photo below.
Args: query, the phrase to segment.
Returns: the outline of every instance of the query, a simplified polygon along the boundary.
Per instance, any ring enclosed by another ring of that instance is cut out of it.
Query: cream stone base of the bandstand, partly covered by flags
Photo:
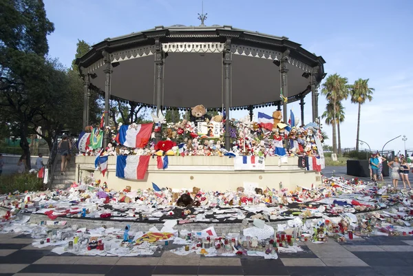
[[[228,191],[243,187],[244,183],[255,183],[257,187],[295,190],[310,189],[321,184],[321,174],[298,167],[298,158],[288,158],[288,163],[279,164],[276,156],[265,158],[265,171],[235,171],[233,159],[219,156],[169,156],[167,169],[158,169],[156,157],[151,158],[143,180],[125,180],[116,177],[116,156],[109,156],[107,173],[103,176],[95,171],[94,156],[76,156],[76,180],[91,176],[94,180],[107,182],[115,191],[130,186],[132,190],[152,187],[189,189],[198,187],[203,191]]]

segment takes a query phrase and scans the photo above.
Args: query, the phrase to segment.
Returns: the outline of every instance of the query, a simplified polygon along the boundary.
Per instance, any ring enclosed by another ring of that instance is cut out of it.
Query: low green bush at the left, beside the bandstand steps
[[[37,178],[36,173],[17,173],[0,177],[0,194],[19,191],[40,191],[43,189],[43,178]]]

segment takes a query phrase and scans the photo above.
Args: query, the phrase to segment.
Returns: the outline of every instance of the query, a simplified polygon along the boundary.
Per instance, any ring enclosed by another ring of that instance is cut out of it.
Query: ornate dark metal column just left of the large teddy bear
[[[162,52],[162,44],[160,43],[159,37],[155,39],[155,93],[156,93],[156,115],[162,107],[162,91],[163,91],[163,65],[164,65],[164,55]],[[162,127],[162,126],[161,126]],[[162,129],[155,133],[155,140],[159,142],[162,138]]]

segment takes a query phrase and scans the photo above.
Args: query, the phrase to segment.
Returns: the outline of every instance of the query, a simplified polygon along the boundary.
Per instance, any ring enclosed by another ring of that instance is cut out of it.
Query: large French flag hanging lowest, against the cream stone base
[[[118,156],[116,176],[131,180],[144,179],[151,156]]]

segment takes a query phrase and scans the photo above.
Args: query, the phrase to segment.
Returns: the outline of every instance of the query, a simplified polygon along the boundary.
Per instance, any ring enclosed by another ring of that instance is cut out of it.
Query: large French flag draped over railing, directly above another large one
[[[136,125],[121,125],[116,135],[116,142],[125,147],[142,148],[147,145],[152,134],[153,123]]]

